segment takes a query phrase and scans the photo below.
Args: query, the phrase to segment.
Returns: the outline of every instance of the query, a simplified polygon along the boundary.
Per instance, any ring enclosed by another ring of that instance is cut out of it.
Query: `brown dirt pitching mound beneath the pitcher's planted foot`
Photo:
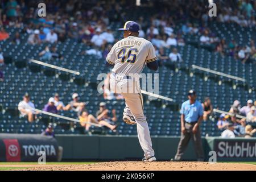
[[[53,164],[53,165],[30,165],[22,170],[29,171],[256,171],[256,165],[253,164],[236,164],[236,163],[217,163],[209,164],[204,162],[102,162],[95,164]]]

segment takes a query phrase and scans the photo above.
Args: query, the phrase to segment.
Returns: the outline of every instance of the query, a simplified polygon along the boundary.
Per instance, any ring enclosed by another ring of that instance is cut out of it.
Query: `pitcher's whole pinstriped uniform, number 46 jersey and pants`
[[[146,62],[150,63],[156,59],[152,43],[135,36],[129,36],[115,43],[106,57],[106,61],[114,65],[110,75],[110,89],[115,93],[121,93],[125,98],[126,107],[123,114],[134,116],[137,122],[139,143],[146,158],[154,156],[155,153],[143,113],[139,75]]]

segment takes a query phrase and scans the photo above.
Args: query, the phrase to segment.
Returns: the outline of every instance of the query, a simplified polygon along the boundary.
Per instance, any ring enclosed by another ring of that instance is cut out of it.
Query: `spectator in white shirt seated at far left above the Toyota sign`
[[[35,109],[35,105],[30,101],[30,96],[28,93],[24,94],[23,101],[19,102],[18,110],[22,117],[27,117],[29,122],[33,122],[36,118],[36,112],[32,109]]]

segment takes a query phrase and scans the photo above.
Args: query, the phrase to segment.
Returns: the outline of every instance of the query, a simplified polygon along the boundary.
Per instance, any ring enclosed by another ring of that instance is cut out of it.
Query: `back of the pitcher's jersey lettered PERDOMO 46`
[[[129,36],[114,44],[106,61],[114,64],[112,71],[116,74],[141,74],[145,62],[155,61],[155,48],[146,39]]]

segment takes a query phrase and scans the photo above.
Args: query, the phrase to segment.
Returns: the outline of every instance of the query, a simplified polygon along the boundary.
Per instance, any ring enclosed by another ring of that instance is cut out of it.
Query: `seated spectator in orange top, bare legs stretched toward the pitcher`
[[[89,114],[88,111],[82,111],[82,114],[80,115],[79,120],[80,120],[81,126],[85,127],[86,131],[89,131],[90,129],[90,126],[91,126],[90,123],[96,123],[102,126],[106,126],[110,130],[117,129],[117,125],[111,125],[110,123],[104,120],[96,119],[92,114]],[[86,123],[86,122],[90,122],[90,123]]]

